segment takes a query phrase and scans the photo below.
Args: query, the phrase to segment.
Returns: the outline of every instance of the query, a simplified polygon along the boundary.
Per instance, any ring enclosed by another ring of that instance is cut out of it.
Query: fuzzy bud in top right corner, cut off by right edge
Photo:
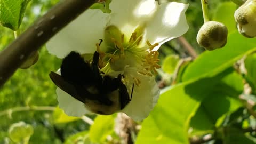
[[[249,38],[256,36],[256,0],[247,0],[235,11],[234,16],[240,34]]]

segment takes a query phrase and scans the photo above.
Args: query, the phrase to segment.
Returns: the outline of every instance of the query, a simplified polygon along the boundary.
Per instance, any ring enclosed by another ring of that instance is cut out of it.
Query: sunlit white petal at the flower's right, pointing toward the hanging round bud
[[[147,27],[146,38],[160,45],[185,34],[188,30],[185,12],[188,4],[171,2],[158,6],[156,14]],[[155,47],[154,50],[159,48]]]

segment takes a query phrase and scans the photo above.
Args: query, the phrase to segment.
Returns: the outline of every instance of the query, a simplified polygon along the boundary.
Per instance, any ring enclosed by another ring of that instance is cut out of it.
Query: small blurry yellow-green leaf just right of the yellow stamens
[[[179,62],[178,55],[168,55],[163,61],[162,69],[165,73],[172,74]]]

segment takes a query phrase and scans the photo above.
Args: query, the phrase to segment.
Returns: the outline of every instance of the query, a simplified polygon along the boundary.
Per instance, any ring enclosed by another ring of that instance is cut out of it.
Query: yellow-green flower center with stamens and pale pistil
[[[161,68],[158,65],[159,53],[153,51],[153,49],[158,46],[158,43],[151,44],[149,41],[143,41],[143,33],[138,30],[135,30],[130,37],[126,37],[125,34],[119,33],[119,31],[113,33],[109,35],[110,38],[108,37],[107,42],[105,42],[104,52],[100,43],[96,44],[97,51],[100,54],[99,67],[104,73],[122,70],[125,73],[125,68],[135,68],[137,74],[131,77],[136,85],[140,84],[138,75],[153,76],[157,74],[156,69]]]

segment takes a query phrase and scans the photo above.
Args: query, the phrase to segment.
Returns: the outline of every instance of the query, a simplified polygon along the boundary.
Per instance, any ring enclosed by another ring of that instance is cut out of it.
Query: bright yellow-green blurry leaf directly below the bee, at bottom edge
[[[90,140],[95,143],[103,143],[107,136],[114,131],[115,115],[98,115],[90,127]]]

